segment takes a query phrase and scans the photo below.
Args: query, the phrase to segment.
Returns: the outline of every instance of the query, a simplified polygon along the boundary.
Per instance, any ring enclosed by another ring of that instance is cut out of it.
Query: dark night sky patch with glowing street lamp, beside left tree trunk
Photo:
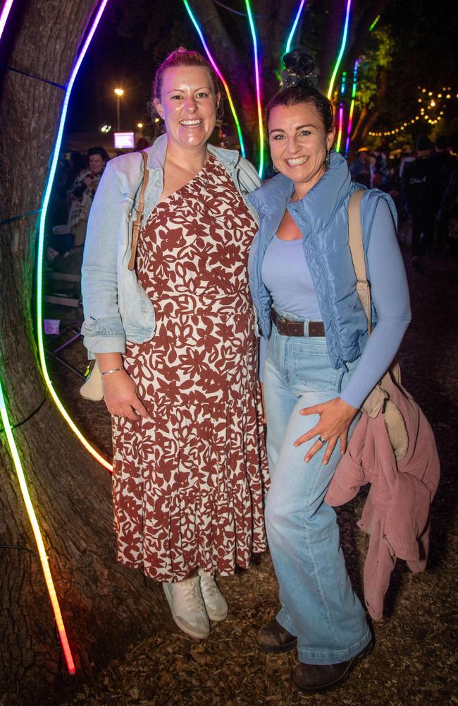
[[[147,102],[152,78],[164,56],[180,42],[202,51],[180,0],[149,2],[156,21],[150,16],[146,25],[139,13],[130,11],[133,5],[109,0],[75,81],[66,134],[92,133],[95,138],[104,124],[116,128],[116,87],[125,91],[120,99],[120,128],[136,130],[137,122],[150,120]],[[142,9],[142,2],[136,5]]]

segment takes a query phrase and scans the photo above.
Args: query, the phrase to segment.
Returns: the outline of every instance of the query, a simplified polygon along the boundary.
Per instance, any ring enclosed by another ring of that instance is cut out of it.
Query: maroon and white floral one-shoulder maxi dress
[[[222,575],[266,549],[267,462],[247,257],[256,222],[210,157],[140,234],[156,335],[125,368],[150,419],[113,417],[118,559],[159,581]]]

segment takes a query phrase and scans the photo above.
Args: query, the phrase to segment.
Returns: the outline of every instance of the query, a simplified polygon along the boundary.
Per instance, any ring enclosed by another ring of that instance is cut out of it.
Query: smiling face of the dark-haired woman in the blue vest
[[[277,105],[268,120],[268,139],[273,164],[292,179],[299,197],[304,196],[326,172],[326,152],[335,130],[326,132],[313,103]]]

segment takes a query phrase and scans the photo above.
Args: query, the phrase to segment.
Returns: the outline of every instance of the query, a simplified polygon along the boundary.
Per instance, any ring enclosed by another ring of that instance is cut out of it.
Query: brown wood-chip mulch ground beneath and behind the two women
[[[411,269],[413,321],[399,359],[403,383],[431,421],[442,464],[442,478],[431,512],[428,568],[413,574],[398,561],[385,600],[385,616],[374,624],[376,646],[349,681],[323,695],[303,695],[292,683],[294,652],[271,656],[256,648],[256,630],[276,614],[278,587],[268,554],[252,568],[221,578],[230,612],[213,623],[208,640],[197,642],[170,619],[151,625],[151,636],[113,654],[97,684],[81,687],[62,706],[111,705],[296,705],[411,706],[458,704],[457,687],[457,469],[458,263],[431,256],[423,273]],[[64,355],[80,370],[80,342]],[[103,403],[78,395],[80,381],[61,364],[51,363],[56,388],[75,421],[107,456],[111,453],[109,416]],[[357,529],[364,497],[338,511],[344,551],[354,586],[361,595],[367,538]],[[154,599],[165,601],[159,592]]]

